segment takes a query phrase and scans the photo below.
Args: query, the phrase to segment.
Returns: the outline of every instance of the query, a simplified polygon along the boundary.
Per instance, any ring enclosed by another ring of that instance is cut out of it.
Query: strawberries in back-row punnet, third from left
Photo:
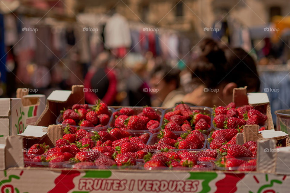
[[[187,104],[177,105],[173,111],[164,115],[163,128],[170,131],[206,131],[211,127],[211,117],[198,109],[191,109]]]

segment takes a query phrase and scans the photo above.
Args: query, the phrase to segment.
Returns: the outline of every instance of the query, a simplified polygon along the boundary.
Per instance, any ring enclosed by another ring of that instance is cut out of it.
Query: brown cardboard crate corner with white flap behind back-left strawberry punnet
[[[47,97],[47,102],[43,113],[37,119],[35,125],[46,126],[55,124],[56,119],[63,108],[70,108],[72,105],[85,103],[83,85],[73,85],[72,90],[54,90]]]

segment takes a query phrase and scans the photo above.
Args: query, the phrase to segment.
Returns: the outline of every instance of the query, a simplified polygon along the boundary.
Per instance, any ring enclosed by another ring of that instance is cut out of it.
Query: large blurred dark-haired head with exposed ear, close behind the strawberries
[[[247,86],[248,92],[260,87],[253,58],[241,48],[221,49],[211,39],[203,40],[190,65],[191,92],[181,101],[191,106],[226,105],[232,102],[233,89]]]

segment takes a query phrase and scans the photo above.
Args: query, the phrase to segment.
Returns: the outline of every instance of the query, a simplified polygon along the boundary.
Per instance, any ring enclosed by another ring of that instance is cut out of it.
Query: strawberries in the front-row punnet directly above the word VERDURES
[[[145,169],[162,169],[162,168],[206,168],[208,165],[198,164],[198,161],[213,161],[217,157],[216,150],[204,150],[191,152],[188,150],[172,151],[165,149],[163,152],[153,154],[148,153],[144,156]]]

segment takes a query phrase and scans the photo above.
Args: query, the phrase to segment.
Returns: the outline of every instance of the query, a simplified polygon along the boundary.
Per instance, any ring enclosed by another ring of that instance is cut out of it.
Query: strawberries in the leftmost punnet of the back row
[[[99,128],[108,125],[111,112],[105,103],[98,103],[91,109],[88,104],[74,104],[71,109],[61,111],[62,125],[79,125],[80,127]]]

